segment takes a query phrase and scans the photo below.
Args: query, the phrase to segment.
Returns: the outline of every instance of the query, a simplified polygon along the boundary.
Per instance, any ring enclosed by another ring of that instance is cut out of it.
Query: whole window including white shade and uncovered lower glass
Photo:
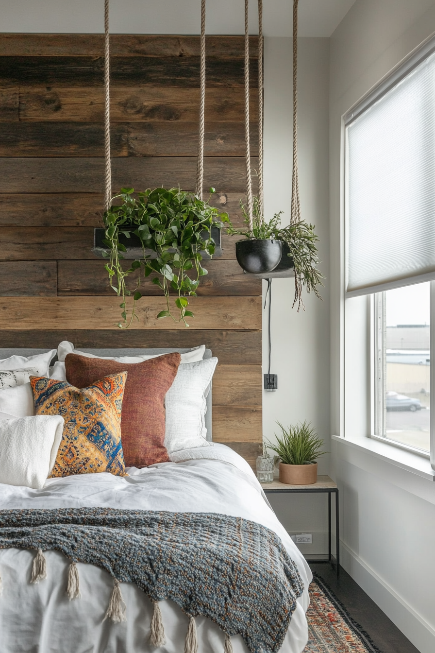
[[[430,454],[435,469],[435,39],[344,123],[346,300],[370,306],[367,435]]]

